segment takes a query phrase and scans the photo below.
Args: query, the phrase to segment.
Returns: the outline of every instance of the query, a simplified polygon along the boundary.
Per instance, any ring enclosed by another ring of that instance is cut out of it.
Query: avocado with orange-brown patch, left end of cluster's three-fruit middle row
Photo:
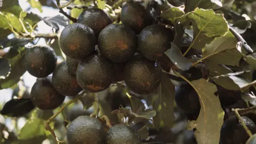
[[[59,43],[61,50],[68,57],[81,60],[94,52],[97,42],[90,27],[73,23],[61,31]]]

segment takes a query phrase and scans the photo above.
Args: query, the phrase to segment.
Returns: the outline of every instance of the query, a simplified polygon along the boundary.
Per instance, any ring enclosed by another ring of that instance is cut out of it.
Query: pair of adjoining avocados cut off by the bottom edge
[[[139,134],[123,124],[109,129],[97,118],[78,116],[67,126],[67,141],[72,144],[140,144]]]

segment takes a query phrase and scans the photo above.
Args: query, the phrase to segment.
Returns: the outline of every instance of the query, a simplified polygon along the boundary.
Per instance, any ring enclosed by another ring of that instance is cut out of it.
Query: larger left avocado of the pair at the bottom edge
[[[79,116],[67,127],[69,144],[103,144],[106,132],[101,122],[90,116]]]

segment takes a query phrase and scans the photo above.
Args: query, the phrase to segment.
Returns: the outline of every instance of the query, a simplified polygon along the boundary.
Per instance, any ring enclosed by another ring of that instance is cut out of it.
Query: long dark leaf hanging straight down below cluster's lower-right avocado
[[[162,73],[158,90],[158,95],[153,100],[153,109],[157,112],[153,117],[155,129],[158,130],[162,123],[171,129],[175,119],[173,115],[175,86],[166,73]]]

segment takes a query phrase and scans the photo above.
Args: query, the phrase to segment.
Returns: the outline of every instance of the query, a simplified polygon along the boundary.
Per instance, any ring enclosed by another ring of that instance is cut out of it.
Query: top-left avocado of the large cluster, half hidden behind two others
[[[98,38],[100,31],[112,22],[112,19],[105,11],[95,7],[86,8],[77,18],[77,23],[82,23],[92,28],[96,38]]]

